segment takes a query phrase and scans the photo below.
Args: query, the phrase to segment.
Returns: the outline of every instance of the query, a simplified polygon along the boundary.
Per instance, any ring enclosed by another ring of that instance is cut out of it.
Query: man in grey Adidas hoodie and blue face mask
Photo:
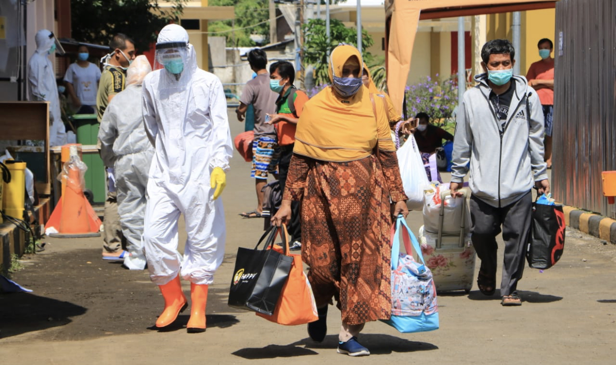
[[[517,282],[524,271],[530,233],[531,189],[549,192],[543,162],[543,110],[537,92],[513,75],[515,50],[506,39],[484,44],[477,86],[466,90],[458,108],[450,188],[458,191],[468,172],[472,244],[481,260],[477,285],[496,291],[496,235],[503,231],[505,259],[502,305],[521,305]]]

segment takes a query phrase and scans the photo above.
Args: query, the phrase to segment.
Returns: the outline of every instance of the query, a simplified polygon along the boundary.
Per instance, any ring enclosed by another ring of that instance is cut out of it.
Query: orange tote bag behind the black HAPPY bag
[[[314,294],[312,294],[312,287],[304,273],[302,257],[289,252],[288,233],[285,225],[282,226],[282,236],[285,246],[275,245],[274,250],[293,257],[289,278],[285,286],[282,287],[274,314],[268,316],[257,312],[256,315],[285,326],[314,322],[318,319],[317,303],[314,300]]]

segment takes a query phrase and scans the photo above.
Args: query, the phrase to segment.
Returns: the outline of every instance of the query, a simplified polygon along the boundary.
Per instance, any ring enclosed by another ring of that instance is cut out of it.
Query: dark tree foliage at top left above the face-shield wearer
[[[111,36],[124,33],[138,52],[150,49],[163,26],[177,22],[187,0],[71,0],[72,35],[79,42],[108,45]]]

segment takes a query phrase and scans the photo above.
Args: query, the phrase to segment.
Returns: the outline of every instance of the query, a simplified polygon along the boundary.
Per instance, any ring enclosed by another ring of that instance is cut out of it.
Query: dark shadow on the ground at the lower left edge
[[[0,338],[64,326],[86,311],[80,305],[26,292],[0,294]]]

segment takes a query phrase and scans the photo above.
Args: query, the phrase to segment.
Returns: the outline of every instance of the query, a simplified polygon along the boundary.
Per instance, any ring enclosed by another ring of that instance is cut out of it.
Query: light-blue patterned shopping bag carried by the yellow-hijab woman
[[[401,234],[406,254],[400,254]],[[438,329],[439,307],[432,272],[426,266],[419,243],[402,215],[392,227],[391,240],[391,319],[383,322],[402,333]],[[413,249],[421,263],[413,259]]]

